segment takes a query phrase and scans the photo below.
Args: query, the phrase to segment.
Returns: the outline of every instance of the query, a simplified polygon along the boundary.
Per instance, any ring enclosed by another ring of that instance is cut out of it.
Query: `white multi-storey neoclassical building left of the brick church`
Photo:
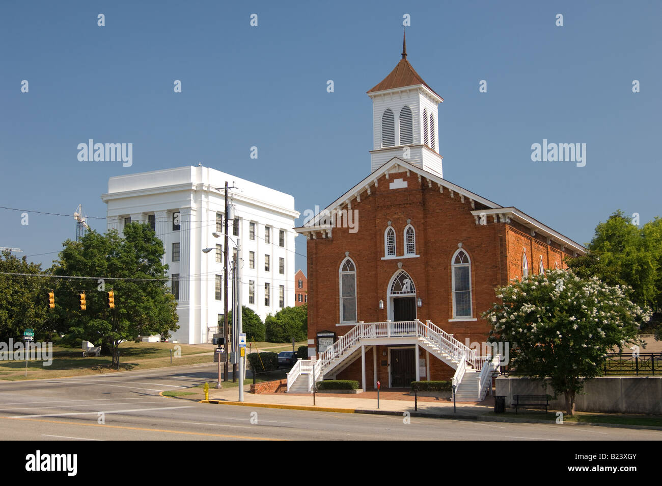
[[[209,167],[185,166],[111,177],[108,228],[131,221],[149,223],[164,242],[164,263],[179,312],[181,343],[207,343],[222,331],[224,186],[234,205],[228,220],[228,257],[242,247],[242,304],[264,319],[295,302],[295,236],[299,212],[294,198]],[[213,233],[220,233],[214,237]],[[203,253],[203,249],[213,251]],[[228,275],[228,308],[232,308]],[[219,322],[221,326],[219,326]]]

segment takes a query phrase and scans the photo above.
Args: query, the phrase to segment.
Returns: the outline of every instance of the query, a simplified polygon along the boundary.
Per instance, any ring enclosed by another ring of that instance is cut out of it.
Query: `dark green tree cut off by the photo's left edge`
[[[34,276],[10,275],[34,274]],[[23,336],[33,328],[36,339],[50,338],[52,322],[46,310],[48,280],[42,276],[41,265],[28,263],[9,251],[0,253],[0,340]]]

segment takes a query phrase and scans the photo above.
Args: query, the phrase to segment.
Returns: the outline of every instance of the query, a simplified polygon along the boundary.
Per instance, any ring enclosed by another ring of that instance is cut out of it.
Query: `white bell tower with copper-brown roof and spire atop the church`
[[[438,106],[444,99],[409,64],[404,36],[401,61],[367,94],[373,101],[370,172],[398,157],[443,177]]]

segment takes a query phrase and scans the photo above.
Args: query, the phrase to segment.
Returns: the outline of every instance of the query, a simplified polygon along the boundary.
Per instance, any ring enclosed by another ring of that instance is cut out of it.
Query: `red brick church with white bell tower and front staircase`
[[[481,314],[495,288],[585,252],[518,208],[444,179],[444,100],[406,57],[403,42],[395,69],[367,91],[371,173],[296,229],[307,237],[311,359],[289,374],[291,392],[321,379],[364,390],[453,379],[458,396],[483,398],[496,362],[465,339],[487,341]]]

